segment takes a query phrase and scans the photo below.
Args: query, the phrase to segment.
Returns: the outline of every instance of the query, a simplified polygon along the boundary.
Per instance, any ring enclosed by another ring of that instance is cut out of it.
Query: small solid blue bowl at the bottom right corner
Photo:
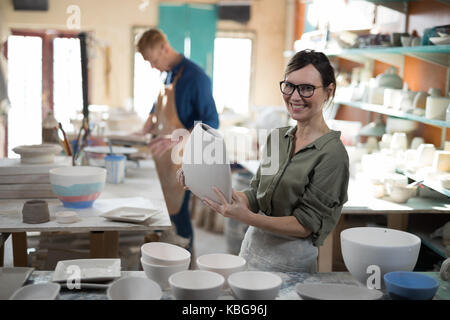
[[[392,299],[431,300],[439,288],[435,279],[417,272],[388,272],[384,283]]]

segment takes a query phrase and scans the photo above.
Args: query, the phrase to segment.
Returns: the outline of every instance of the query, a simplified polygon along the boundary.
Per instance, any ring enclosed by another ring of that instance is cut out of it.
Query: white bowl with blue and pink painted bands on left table
[[[53,193],[65,207],[82,209],[92,207],[100,196],[106,181],[106,169],[79,166],[50,170]]]

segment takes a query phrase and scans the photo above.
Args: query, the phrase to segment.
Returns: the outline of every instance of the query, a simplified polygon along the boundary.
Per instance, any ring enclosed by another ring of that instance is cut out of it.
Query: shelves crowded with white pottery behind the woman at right
[[[327,54],[365,65],[353,69],[352,81],[347,86],[342,86],[345,81],[339,83],[338,79],[335,104],[388,115],[386,126],[380,123],[385,129],[381,141],[376,138],[381,134],[372,134],[365,146],[349,148],[350,158],[360,160],[362,172],[368,173],[373,194],[376,197],[389,194],[395,202],[406,202],[417,188],[406,188],[409,178],[450,197],[450,142],[445,141],[450,128],[450,45],[347,49]],[[429,88],[427,92],[409,90],[401,78],[405,55],[445,66],[446,93],[438,88]],[[391,67],[372,78],[374,60]],[[396,67],[400,68],[400,76]],[[441,145],[413,137],[418,123],[441,128]]]

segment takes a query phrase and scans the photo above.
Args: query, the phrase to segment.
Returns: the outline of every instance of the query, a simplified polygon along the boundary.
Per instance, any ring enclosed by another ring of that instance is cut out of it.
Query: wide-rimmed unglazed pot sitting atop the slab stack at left
[[[53,163],[55,154],[62,151],[57,144],[35,144],[15,147],[13,151],[20,154],[20,161],[27,164]]]

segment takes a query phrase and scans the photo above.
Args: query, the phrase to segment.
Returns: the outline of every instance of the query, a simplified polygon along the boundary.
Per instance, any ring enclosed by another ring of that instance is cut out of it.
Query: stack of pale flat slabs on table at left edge
[[[49,170],[70,166],[70,157],[55,157],[53,163],[27,164],[20,159],[0,159],[0,199],[56,198]]]

